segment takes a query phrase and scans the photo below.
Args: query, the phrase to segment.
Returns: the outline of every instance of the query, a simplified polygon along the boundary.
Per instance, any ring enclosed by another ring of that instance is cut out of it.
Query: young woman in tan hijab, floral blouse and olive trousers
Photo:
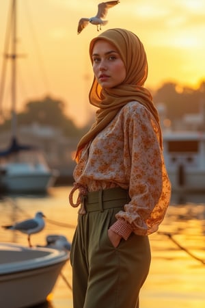
[[[70,204],[81,204],[70,253],[73,307],[136,308],[150,268],[148,235],[171,192],[159,115],[143,86],[146,52],[133,32],[103,32],[90,42],[90,57],[90,103],[98,110],[78,144],[70,192]]]

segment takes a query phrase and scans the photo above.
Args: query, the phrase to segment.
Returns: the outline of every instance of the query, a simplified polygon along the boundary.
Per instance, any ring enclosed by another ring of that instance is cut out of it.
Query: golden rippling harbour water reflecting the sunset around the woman
[[[68,206],[69,191],[70,188],[52,188],[46,196],[5,196],[0,201],[1,225],[31,218],[40,210],[51,221],[47,220],[45,229],[31,236],[31,243],[43,245],[46,235],[54,233],[65,235],[71,242],[77,209]],[[141,308],[204,308],[205,264],[200,261],[205,260],[204,235],[205,194],[173,194],[160,232],[150,235],[152,264],[141,290]],[[0,229],[0,241],[27,245],[27,235]],[[62,272],[71,283],[70,262]],[[72,293],[61,277],[49,304],[38,307],[72,308]]]

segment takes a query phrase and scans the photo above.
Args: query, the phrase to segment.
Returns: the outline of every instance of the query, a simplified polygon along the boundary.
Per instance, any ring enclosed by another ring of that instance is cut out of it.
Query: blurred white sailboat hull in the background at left
[[[15,153],[1,158],[0,188],[8,192],[45,192],[55,183],[57,170],[51,170],[40,151]]]

